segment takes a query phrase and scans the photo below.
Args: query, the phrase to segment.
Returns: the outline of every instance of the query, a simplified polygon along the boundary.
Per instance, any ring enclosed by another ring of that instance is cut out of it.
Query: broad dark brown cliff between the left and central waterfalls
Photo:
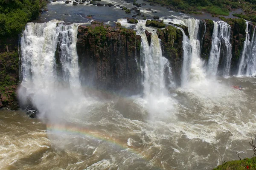
[[[79,26],[77,53],[83,85],[137,94],[141,91],[141,37],[134,30],[93,22]]]

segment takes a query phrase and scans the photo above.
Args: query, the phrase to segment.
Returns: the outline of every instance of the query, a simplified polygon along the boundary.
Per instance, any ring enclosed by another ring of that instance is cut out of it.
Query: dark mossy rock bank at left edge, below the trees
[[[16,89],[19,80],[18,40],[0,40],[0,108],[17,110]]]

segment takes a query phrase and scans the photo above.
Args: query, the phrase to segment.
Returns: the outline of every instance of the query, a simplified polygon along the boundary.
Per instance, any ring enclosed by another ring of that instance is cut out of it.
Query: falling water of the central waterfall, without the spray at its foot
[[[160,97],[166,93],[166,83],[164,71],[169,65],[169,61],[162,56],[160,41],[155,31],[152,31],[151,45],[148,45],[145,33],[141,34],[142,57],[144,72],[144,96]]]

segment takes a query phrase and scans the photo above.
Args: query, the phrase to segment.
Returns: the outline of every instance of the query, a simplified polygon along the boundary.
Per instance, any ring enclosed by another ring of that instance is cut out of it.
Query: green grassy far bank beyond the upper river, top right
[[[162,6],[170,6],[170,9],[189,14],[202,14],[207,11],[214,15],[229,15],[232,9],[241,8],[247,17],[255,17],[256,0],[147,0],[159,3]]]

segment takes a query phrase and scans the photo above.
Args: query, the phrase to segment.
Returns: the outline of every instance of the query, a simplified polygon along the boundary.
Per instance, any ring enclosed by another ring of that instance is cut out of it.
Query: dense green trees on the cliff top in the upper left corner
[[[0,37],[17,37],[45,5],[45,0],[0,0]]]

